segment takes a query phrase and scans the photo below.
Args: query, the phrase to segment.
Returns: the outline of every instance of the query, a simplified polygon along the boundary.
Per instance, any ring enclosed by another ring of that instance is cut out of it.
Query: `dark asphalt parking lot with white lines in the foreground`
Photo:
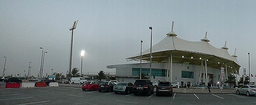
[[[256,96],[240,94],[185,94],[174,93],[173,97],[133,94],[115,94],[114,92],[82,91],[79,87],[35,87],[0,88],[1,105],[224,105],[256,104]]]

